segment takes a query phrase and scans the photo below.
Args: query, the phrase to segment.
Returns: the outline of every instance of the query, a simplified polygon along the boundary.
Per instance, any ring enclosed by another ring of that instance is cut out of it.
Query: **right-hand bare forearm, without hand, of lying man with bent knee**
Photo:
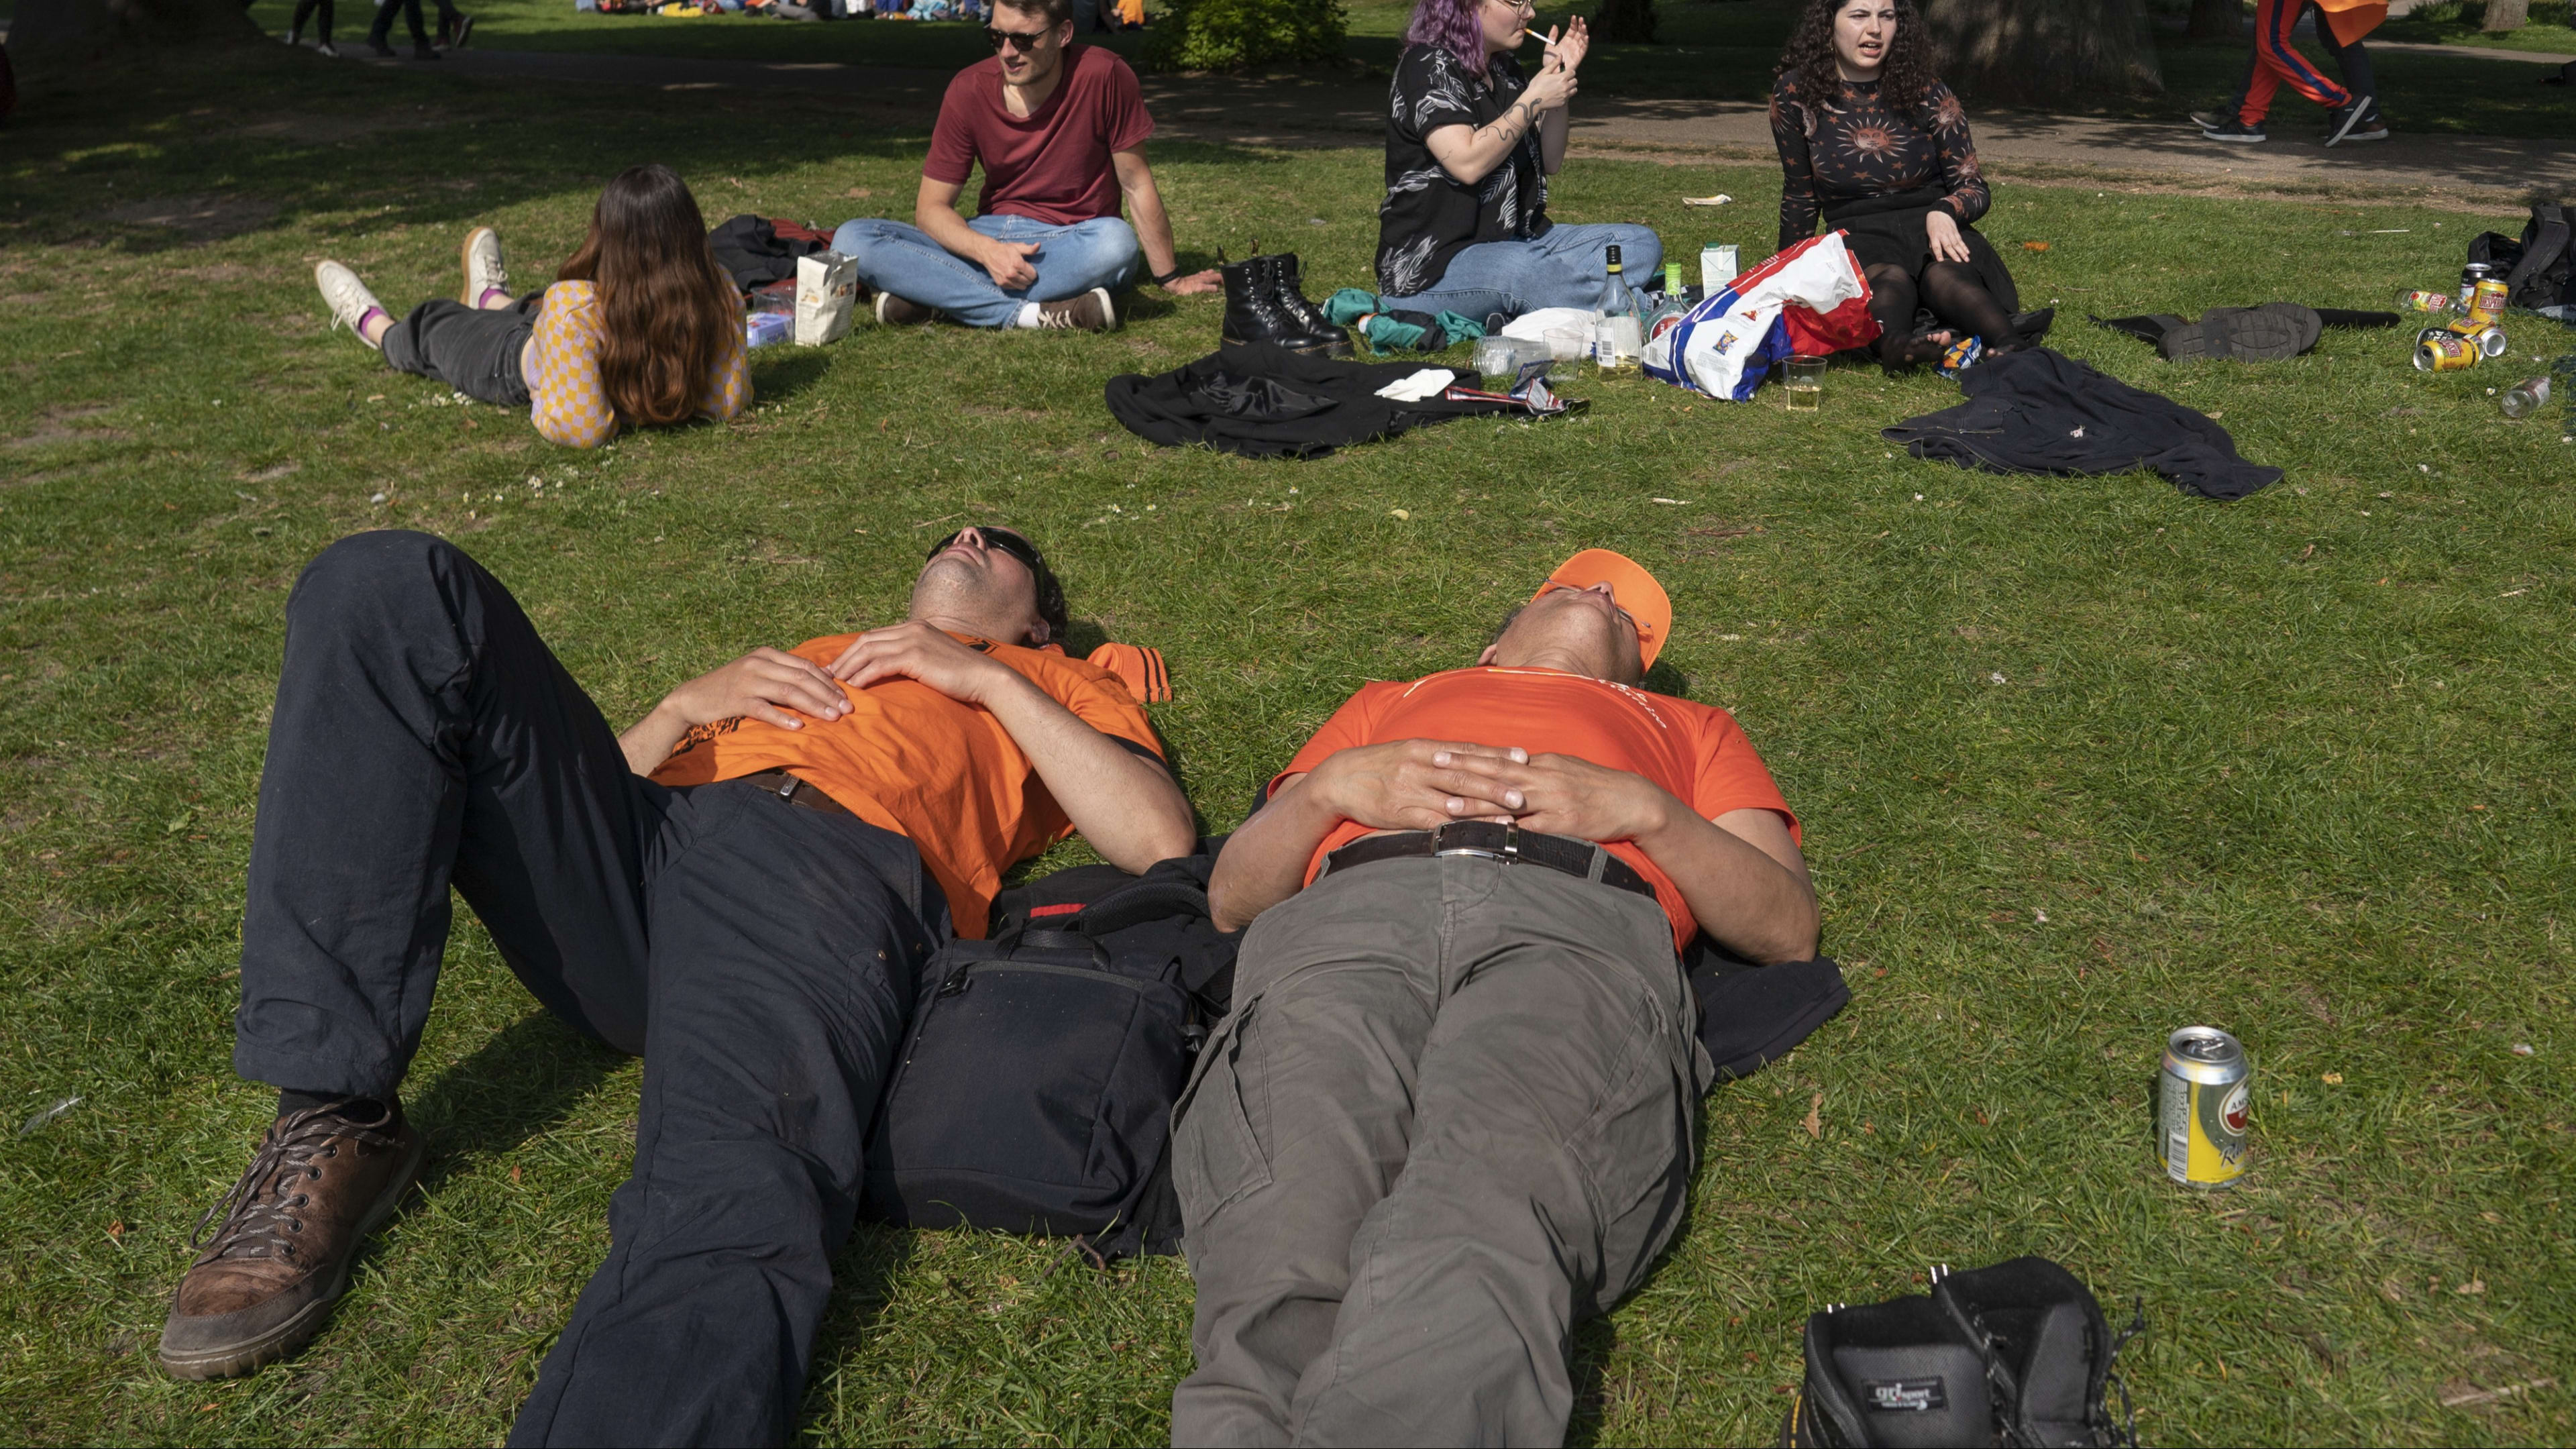
[[[1010,730],[1064,817],[1103,861],[1144,871],[1198,846],[1190,802],[1162,761],[1128,753],[1018,673],[994,688],[984,709]]]

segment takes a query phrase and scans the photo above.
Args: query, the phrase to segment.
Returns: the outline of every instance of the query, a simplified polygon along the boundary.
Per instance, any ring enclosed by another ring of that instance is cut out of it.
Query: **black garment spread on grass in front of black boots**
[[[1159,376],[1121,374],[1108,384],[1110,413],[1139,438],[1167,449],[1206,443],[1247,459],[1319,459],[1332,449],[1394,438],[1450,418],[1530,418],[1515,397],[1425,397],[1396,402],[1378,389],[1425,371],[1422,364],[1345,364],[1270,343],[1213,351]],[[1450,387],[1473,387],[1473,371]]]

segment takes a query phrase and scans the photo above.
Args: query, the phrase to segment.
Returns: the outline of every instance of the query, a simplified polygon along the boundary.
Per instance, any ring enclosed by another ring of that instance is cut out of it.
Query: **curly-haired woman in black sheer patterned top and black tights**
[[[1968,113],[1932,75],[1914,0],[1808,0],[1772,83],[1780,245],[1844,232],[1870,278],[1878,358],[1932,361],[1958,335],[2012,351],[2045,330],[2022,317],[2004,258],[1976,232],[1991,204]],[[1929,312],[1929,315],[1924,315]]]

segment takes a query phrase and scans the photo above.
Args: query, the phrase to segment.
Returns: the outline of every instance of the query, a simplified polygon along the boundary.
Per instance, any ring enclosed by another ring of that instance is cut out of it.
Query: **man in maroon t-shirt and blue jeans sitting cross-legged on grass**
[[[1180,273],[1172,219],[1144,162],[1154,116],[1136,72],[1115,52],[1077,46],[1074,0],[999,0],[984,39],[994,57],[948,83],[922,160],[912,219],[860,217],[832,232],[876,289],[878,322],[969,327],[1118,325],[1110,299],[1136,276],[1136,245],[1154,286],[1216,291],[1216,273]],[[976,219],[956,211],[984,168]],[[1136,211],[1128,227],[1118,199]]]

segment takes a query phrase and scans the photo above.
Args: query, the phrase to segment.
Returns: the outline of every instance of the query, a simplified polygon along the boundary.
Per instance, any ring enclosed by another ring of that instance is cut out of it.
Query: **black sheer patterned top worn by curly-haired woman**
[[[1875,80],[1834,80],[1829,93],[1795,70],[1772,83],[1772,142],[1780,144],[1780,245],[1816,235],[1819,211],[1940,183],[1963,224],[1986,214],[1986,173],[1976,165],[1968,111],[1932,83],[1909,116],[1878,103]]]

